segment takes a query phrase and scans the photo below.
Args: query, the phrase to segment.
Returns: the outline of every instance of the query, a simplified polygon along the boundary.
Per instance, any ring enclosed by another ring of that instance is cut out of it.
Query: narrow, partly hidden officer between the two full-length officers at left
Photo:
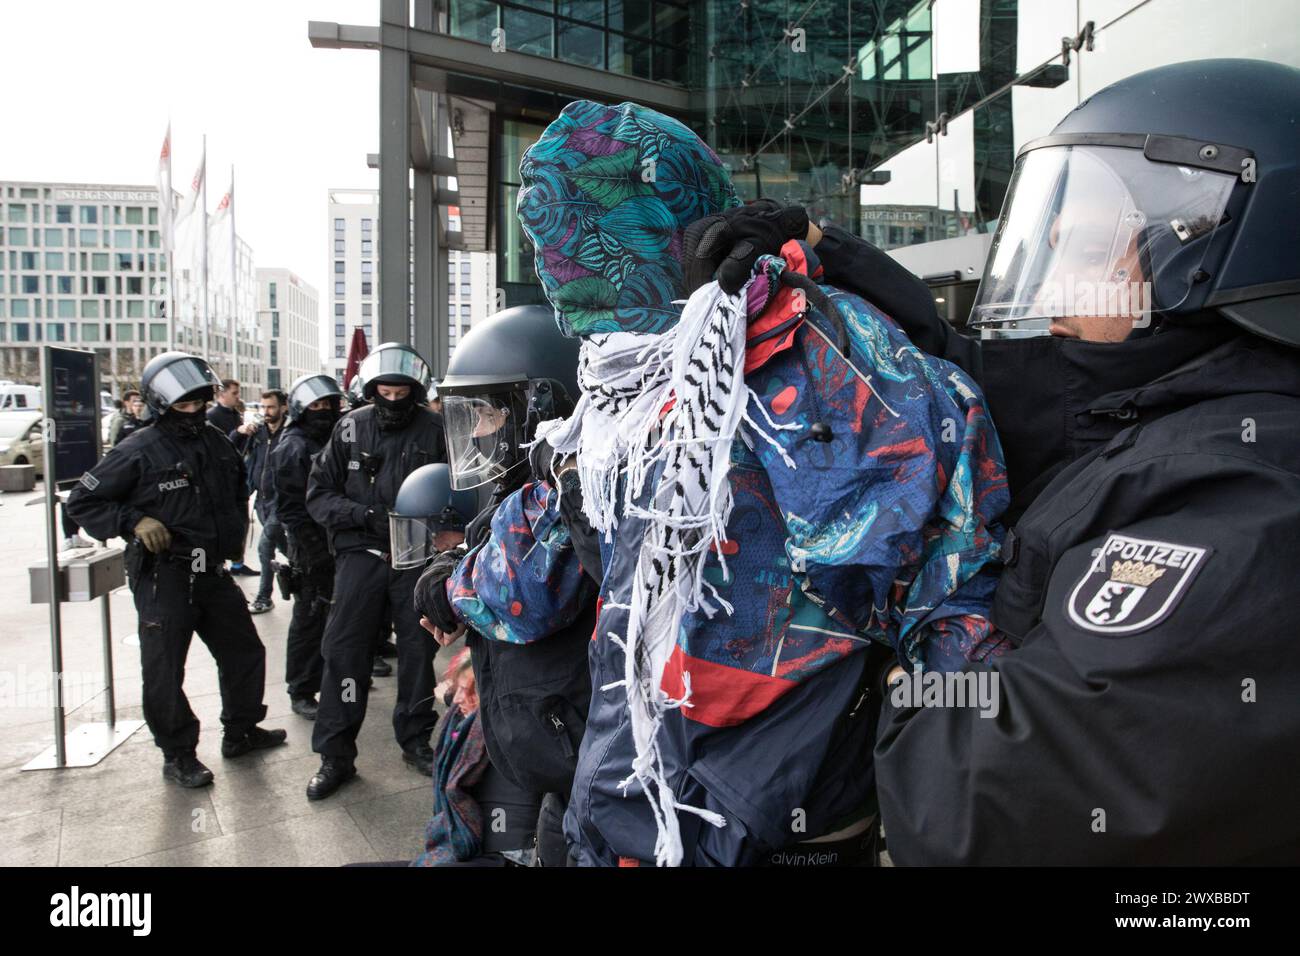
[[[289,542],[287,580],[294,615],[285,646],[285,682],[295,714],[316,719],[321,688],[321,636],[334,596],[334,555],[325,529],[307,511],[312,460],[339,419],[343,390],[328,375],[304,375],[289,389],[289,424],[266,464]]]

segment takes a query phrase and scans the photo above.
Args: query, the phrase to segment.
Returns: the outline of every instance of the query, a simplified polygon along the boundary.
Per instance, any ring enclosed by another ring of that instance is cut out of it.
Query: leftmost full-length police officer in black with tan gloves
[[[217,661],[224,757],[283,744],[264,730],[266,650],[243,592],[224,562],[248,531],[243,462],[208,424],[216,375],[194,355],[170,351],[144,368],[140,390],[156,419],[116,445],[82,476],[68,510],[96,538],[124,537],[139,613],[144,719],[161,748],[162,775],[182,787],[212,783],[199,762],[199,721],[185,697],[185,661],[196,632]]]

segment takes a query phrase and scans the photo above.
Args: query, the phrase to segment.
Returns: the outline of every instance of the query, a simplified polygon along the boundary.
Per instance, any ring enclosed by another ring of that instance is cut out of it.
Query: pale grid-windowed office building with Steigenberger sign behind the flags
[[[120,394],[159,352],[203,352],[200,269],[182,258],[173,317],[156,187],[0,182],[0,377],[35,382],[42,345],[94,349],[104,389]],[[218,375],[260,388],[252,250],[242,239],[233,261],[221,280],[209,276],[207,354]]]

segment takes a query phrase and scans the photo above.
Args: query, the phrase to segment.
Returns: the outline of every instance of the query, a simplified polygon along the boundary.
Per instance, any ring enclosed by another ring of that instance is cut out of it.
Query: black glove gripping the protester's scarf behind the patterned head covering
[[[790,239],[809,234],[809,215],[802,206],[784,206],[775,199],[755,199],[734,209],[706,216],[686,226],[682,269],[686,294],[715,277],[728,295],[749,281],[760,255],[777,255]]]

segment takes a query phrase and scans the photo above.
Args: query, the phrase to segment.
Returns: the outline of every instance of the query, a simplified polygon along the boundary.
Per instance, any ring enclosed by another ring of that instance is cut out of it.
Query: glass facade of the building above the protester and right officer
[[[1217,56],[1300,66],[1294,12],[1290,0],[1249,16],[1213,0],[452,0],[451,30],[682,86],[680,118],[745,198],[801,203],[896,250],[992,233],[1017,151],[1117,79]],[[519,156],[566,98],[550,111],[508,88],[494,99],[498,276],[515,304],[536,281],[514,219]]]

